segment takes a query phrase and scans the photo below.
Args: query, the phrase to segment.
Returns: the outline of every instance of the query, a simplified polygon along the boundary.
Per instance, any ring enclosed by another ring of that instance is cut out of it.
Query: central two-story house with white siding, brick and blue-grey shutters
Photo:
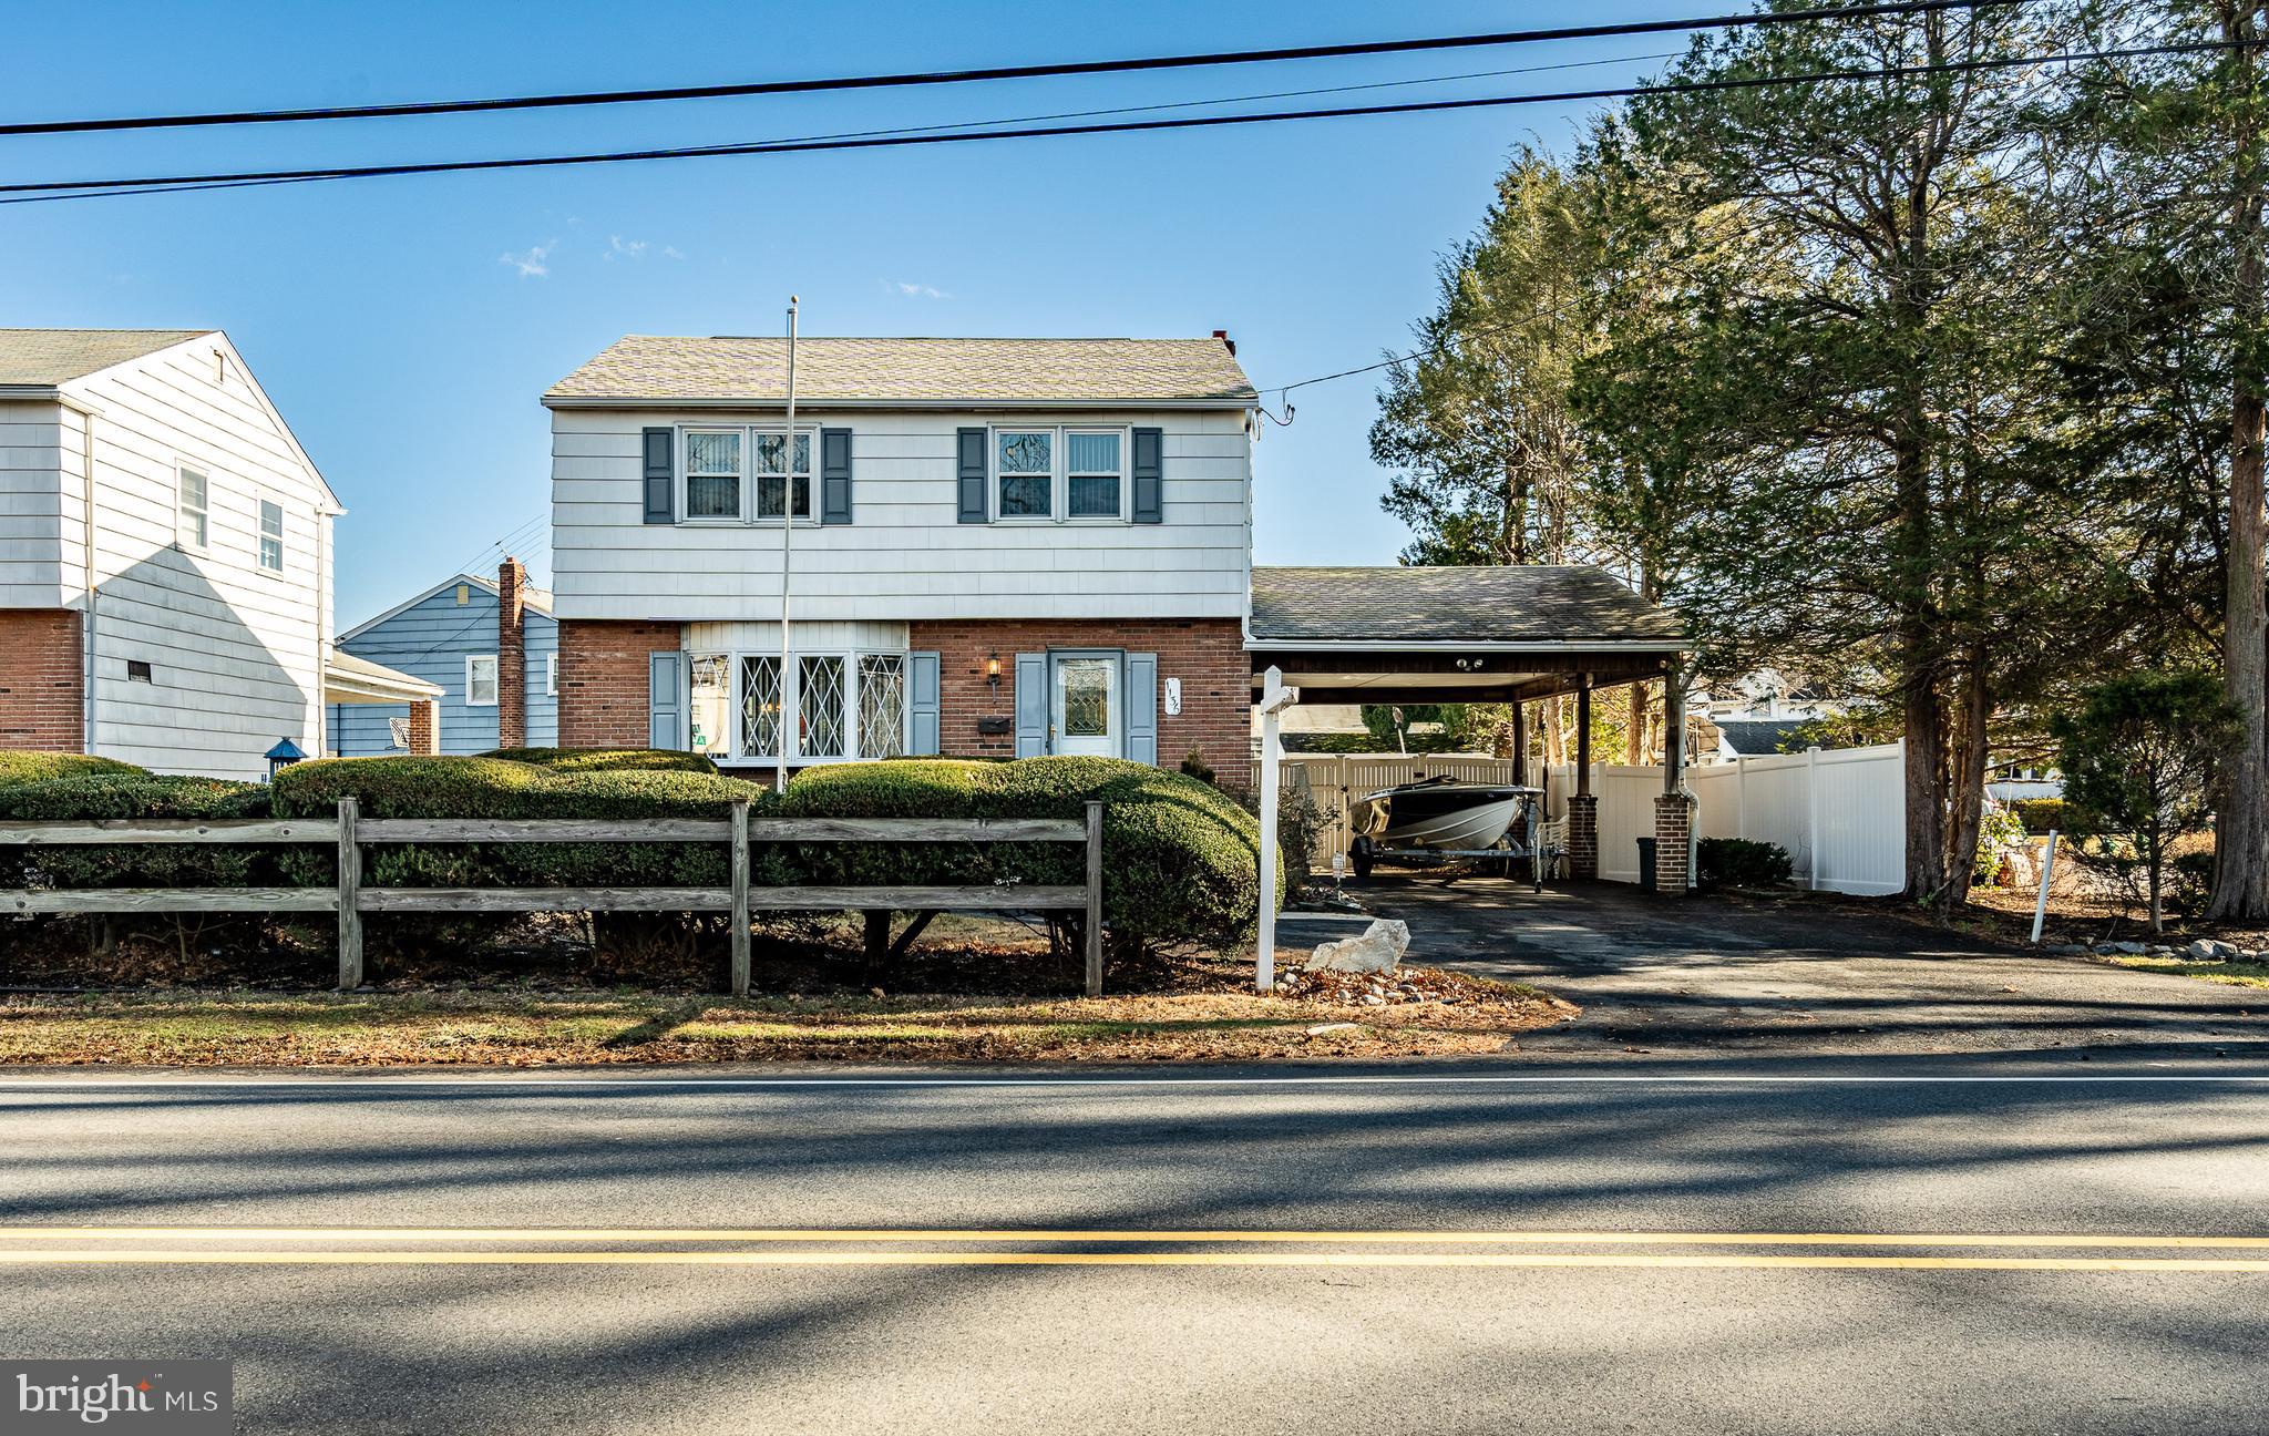
[[[787,343],[735,336],[545,395],[563,744],[1248,755],[1228,336],[805,338],[792,436],[785,404]]]

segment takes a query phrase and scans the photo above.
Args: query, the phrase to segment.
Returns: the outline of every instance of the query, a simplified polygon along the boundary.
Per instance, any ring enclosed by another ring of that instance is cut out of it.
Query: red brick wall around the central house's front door
[[[953,758],[1017,755],[1017,653],[1125,649],[1157,653],[1157,678],[1182,681],[1182,712],[1157,699],[1157,765],[1180,767],[1196,749],[1223,776],[1241,780],[1252,753],[1252,667],[1237,619],[921,619],[910,649],[937,653],[937,746]],[[998,692],[989,681],[1001,660]],[[1007,733],[978,733],[978,719],[1010,719]]]

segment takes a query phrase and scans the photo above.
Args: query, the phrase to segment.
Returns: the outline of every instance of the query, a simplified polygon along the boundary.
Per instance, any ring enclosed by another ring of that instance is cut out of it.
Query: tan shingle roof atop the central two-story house
[[[785,338],[629,333],[545,399],[756,399],[787,395]],[[803,404],[1252,399],[1218,338],[801,338]]]

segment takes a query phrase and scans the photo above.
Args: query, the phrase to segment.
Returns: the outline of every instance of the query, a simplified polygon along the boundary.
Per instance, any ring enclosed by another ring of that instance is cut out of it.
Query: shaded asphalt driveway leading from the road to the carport
[[[1990,944],[1808,896],[1670,903],[1618,882],[1380,876],[1411,962],[1532,982],[1584,1007],[1522,1050],[1994,1053],[2181,1046],[2269,1053],[2269,991]],[[1307,948],[1364,919],[1284,914]]]

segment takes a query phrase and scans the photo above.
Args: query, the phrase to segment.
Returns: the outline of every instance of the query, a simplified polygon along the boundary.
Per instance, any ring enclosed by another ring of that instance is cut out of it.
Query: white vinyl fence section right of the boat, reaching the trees
[[[1695,837],[1749,837],[1779,844],[1797,882],[1865,896],[1906,887],[1906,749],[1806,749],[1686,769],[1695,794]],[[1552,817],[1566,808],[1575,769],[1559,765]],[[1600,876],[1638,882],[1638,839],[1654,835],[1659,767],[1595,765],[1600,794]]]

